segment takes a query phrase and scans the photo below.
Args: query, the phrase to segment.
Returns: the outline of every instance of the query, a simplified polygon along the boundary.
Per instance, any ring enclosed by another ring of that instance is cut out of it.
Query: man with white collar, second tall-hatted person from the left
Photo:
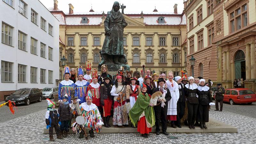
[[[77,76],[78,76],[78,81],[76,81],[76,89],[75,89],[75,97],[77,96],[78,99],[80,99],[80,103],[85,102],[85,95],[87,91],[87,87],[89,83],[86,80],[83,80],[84,76],[84,70],[82,67],[76,68],[77,71]]]

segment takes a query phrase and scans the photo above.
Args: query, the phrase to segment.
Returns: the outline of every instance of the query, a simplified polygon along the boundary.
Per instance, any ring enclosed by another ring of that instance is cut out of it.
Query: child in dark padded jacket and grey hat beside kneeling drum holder
[[[60,134],[65,138],[68,136],[68,122],[72,120],[73,114],[71,113],[71,108],[69,107],[67,94],[63,96],[62,101],[63,102],[60,104],[58,112],[61,120]]]

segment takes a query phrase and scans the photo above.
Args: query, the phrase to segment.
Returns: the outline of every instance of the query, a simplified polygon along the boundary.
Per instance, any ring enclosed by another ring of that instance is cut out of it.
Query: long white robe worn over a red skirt
[[[177,115],[177,102],[180,98],[179,85],[174,80],[172,82],[173,87],[169,80],[165,83],[172,96],[172,99],[168,101],[167,115]]]

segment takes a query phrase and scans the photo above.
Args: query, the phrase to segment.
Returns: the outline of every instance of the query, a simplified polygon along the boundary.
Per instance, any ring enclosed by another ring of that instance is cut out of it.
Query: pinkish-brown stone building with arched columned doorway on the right
[[[255,92],[255,0],[189,0],[184,6],[187,62],[191,55],[196,58],[195,76],[210,78],[224,88],[243,78],[244,86]]]

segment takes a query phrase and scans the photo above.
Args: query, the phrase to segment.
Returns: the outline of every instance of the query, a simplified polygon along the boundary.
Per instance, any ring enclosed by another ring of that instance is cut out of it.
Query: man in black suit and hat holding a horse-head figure
[[[169,135],[166,132],[167,130],[167,108],[168,102],[172,99],[171,93],[169,89],[164,87],[165,80],[163,78],[158,79],[159,86],[153,90],[153,95],[155,92],[161,92],[162,94],[165,93],[165,102],[161,99],[157,100],[156,106],[154,106],[155,117],[156,117],[156,135],[160,134],[160,118],[162,122],[162,131],[164,135]]]

